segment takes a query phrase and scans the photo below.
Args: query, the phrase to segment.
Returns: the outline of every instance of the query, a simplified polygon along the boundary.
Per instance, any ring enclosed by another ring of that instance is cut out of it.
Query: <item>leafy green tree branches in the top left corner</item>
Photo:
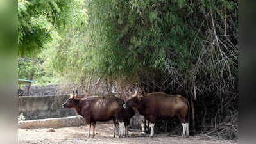
[[[35,56],[53,35],[65,35],[74,19],[81,19],[81,0],[18,0],[18,47],[20,56]]]

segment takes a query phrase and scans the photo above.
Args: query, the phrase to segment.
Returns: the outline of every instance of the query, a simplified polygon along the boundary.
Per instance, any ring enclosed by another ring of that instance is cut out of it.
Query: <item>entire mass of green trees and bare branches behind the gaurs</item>
[[[19,1],[18,31],[62,83],[181,93],[191,129],[237,138],[238,1]]]

